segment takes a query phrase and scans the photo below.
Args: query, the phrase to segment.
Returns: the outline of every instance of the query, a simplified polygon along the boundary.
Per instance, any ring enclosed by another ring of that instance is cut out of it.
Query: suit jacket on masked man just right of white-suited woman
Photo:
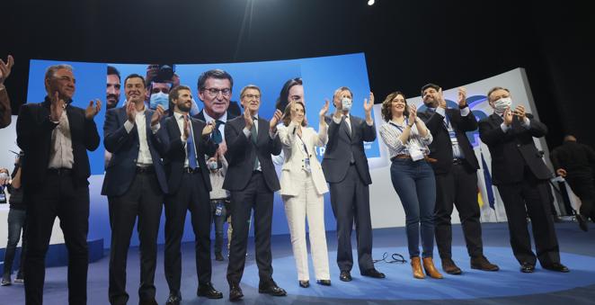
[[[328,143],[324,151],[323,171],[328,183],[339,183],[347,175],[351,163],[351,154],[355,160],[361,180],[365,184],[372,184],[369,175],[368,158],[364,152],[364,141],[376,139],[375,125],[368,126],[365,120],[350,115],[351,135],[346,124],[337,124],[333,118],[327,118],[329,124]]]

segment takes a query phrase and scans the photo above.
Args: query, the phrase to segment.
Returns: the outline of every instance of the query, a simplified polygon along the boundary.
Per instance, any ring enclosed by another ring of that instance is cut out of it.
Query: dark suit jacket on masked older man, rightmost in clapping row
[[[500,128],[502,118],[498,114],[493,113],[479,121],[479,137],[492,155],[492,183],[495,185],[521,182],[525,166],[528,166],[537,179],[546,180],[552,177],[533,141],[533,137],[545,136],[547,127],[534,120],[530,113],[527,113],[527,118],[528,129],[515,116],[508,132]]]

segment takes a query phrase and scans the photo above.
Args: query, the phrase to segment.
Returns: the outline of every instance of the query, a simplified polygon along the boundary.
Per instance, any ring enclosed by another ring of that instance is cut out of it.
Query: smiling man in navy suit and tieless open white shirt
[[[138,216],[140,240],[140,304],[156,304],[155,265],[157,232],[164,194],[167,193],[161,157],[167,137],[158,132],[164,109],[145,106],[145,79],[132,74],[124,80],[128,103],[108,110],[103,125],[103,145],[111,152],[105,170],[102,195],[110,206],[110,302],[126,304],[126,259],[132,229]]]

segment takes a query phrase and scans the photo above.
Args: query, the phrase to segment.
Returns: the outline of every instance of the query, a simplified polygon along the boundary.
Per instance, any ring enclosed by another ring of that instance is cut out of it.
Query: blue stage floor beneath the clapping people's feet
[[[484,224],[484,254],[493,263],[500,265],[501,271],[486,273],[469,268],[465,242],[460,226],[454,226],[453,258],[464,271],[462,275],[445,274],[443,280],[413,279],[411,267],[407,264],[377,263],[377,269],[386,274],[386,279],[377,280],[360,276],[357,267],[351,272],[353,281],[339,281],[339,270],[334,263],[336,240],[334,232],[328,232],[331,280],[333,285],[325,287],[315,284],[314,272],[310,264],[310,288],[297,286],[295,263],[291,254],[289,236],[276,236],[272,239],[273,277],[285,288],[287,297],[271,297],[259,294],[258,274],[254,262],[252,242],[242,289],[245,304],[593,304],[595,303],[595,226],[591,224],[588,233],[578,229],[575,223],[558,223],[556,230],[560,241],[562,262],[571,269],[569,274],[559,274],[541,269],[537,265],[534,274],[521,274],[519,265],[512,256],[508,242],[508,229],[505,223]],[[355,241],[353,241],[355,245]],[[376,229],[374,231],[374,258],[383,253],[406,255],[404,229]],[[437,255],[436,255],[437,256]],[[354,253],[354,257],[357,257]],[[162,304],[167,298],[168,289],[164,279],[163,247],[159,250],[159,261],[155,274],[157,301]],[[193,245],[182,246],[182,298],[183,304],[223,304],[228,303],[226,284],[226,261],[213,261],[213,283],[224,292],[223,300],[198,299],[196,292]],[[103,257],[89,266],[89,304],[108,304],[108,263],[109,256]],[[440,269],[440,259],[436,259]],[[129,253],[128,292],[129,304],[138,303],[138,248]],[[67,268],[49,268],[46,275],[45,303],[67,304]],[[0,287],[0,304],[23,304],[22,284]]]

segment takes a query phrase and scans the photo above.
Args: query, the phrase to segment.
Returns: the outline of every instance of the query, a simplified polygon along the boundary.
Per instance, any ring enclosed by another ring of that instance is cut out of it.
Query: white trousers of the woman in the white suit
[[[297,196],[282,196],[289,223],[291,247],[296,259],[297,280],[309,281],[306,217],[316,280],[330,280],[328,249],[324,231],[324,196],[316,193],[312,175],[301,171],[300,178],[292,181],[299,192]]]

